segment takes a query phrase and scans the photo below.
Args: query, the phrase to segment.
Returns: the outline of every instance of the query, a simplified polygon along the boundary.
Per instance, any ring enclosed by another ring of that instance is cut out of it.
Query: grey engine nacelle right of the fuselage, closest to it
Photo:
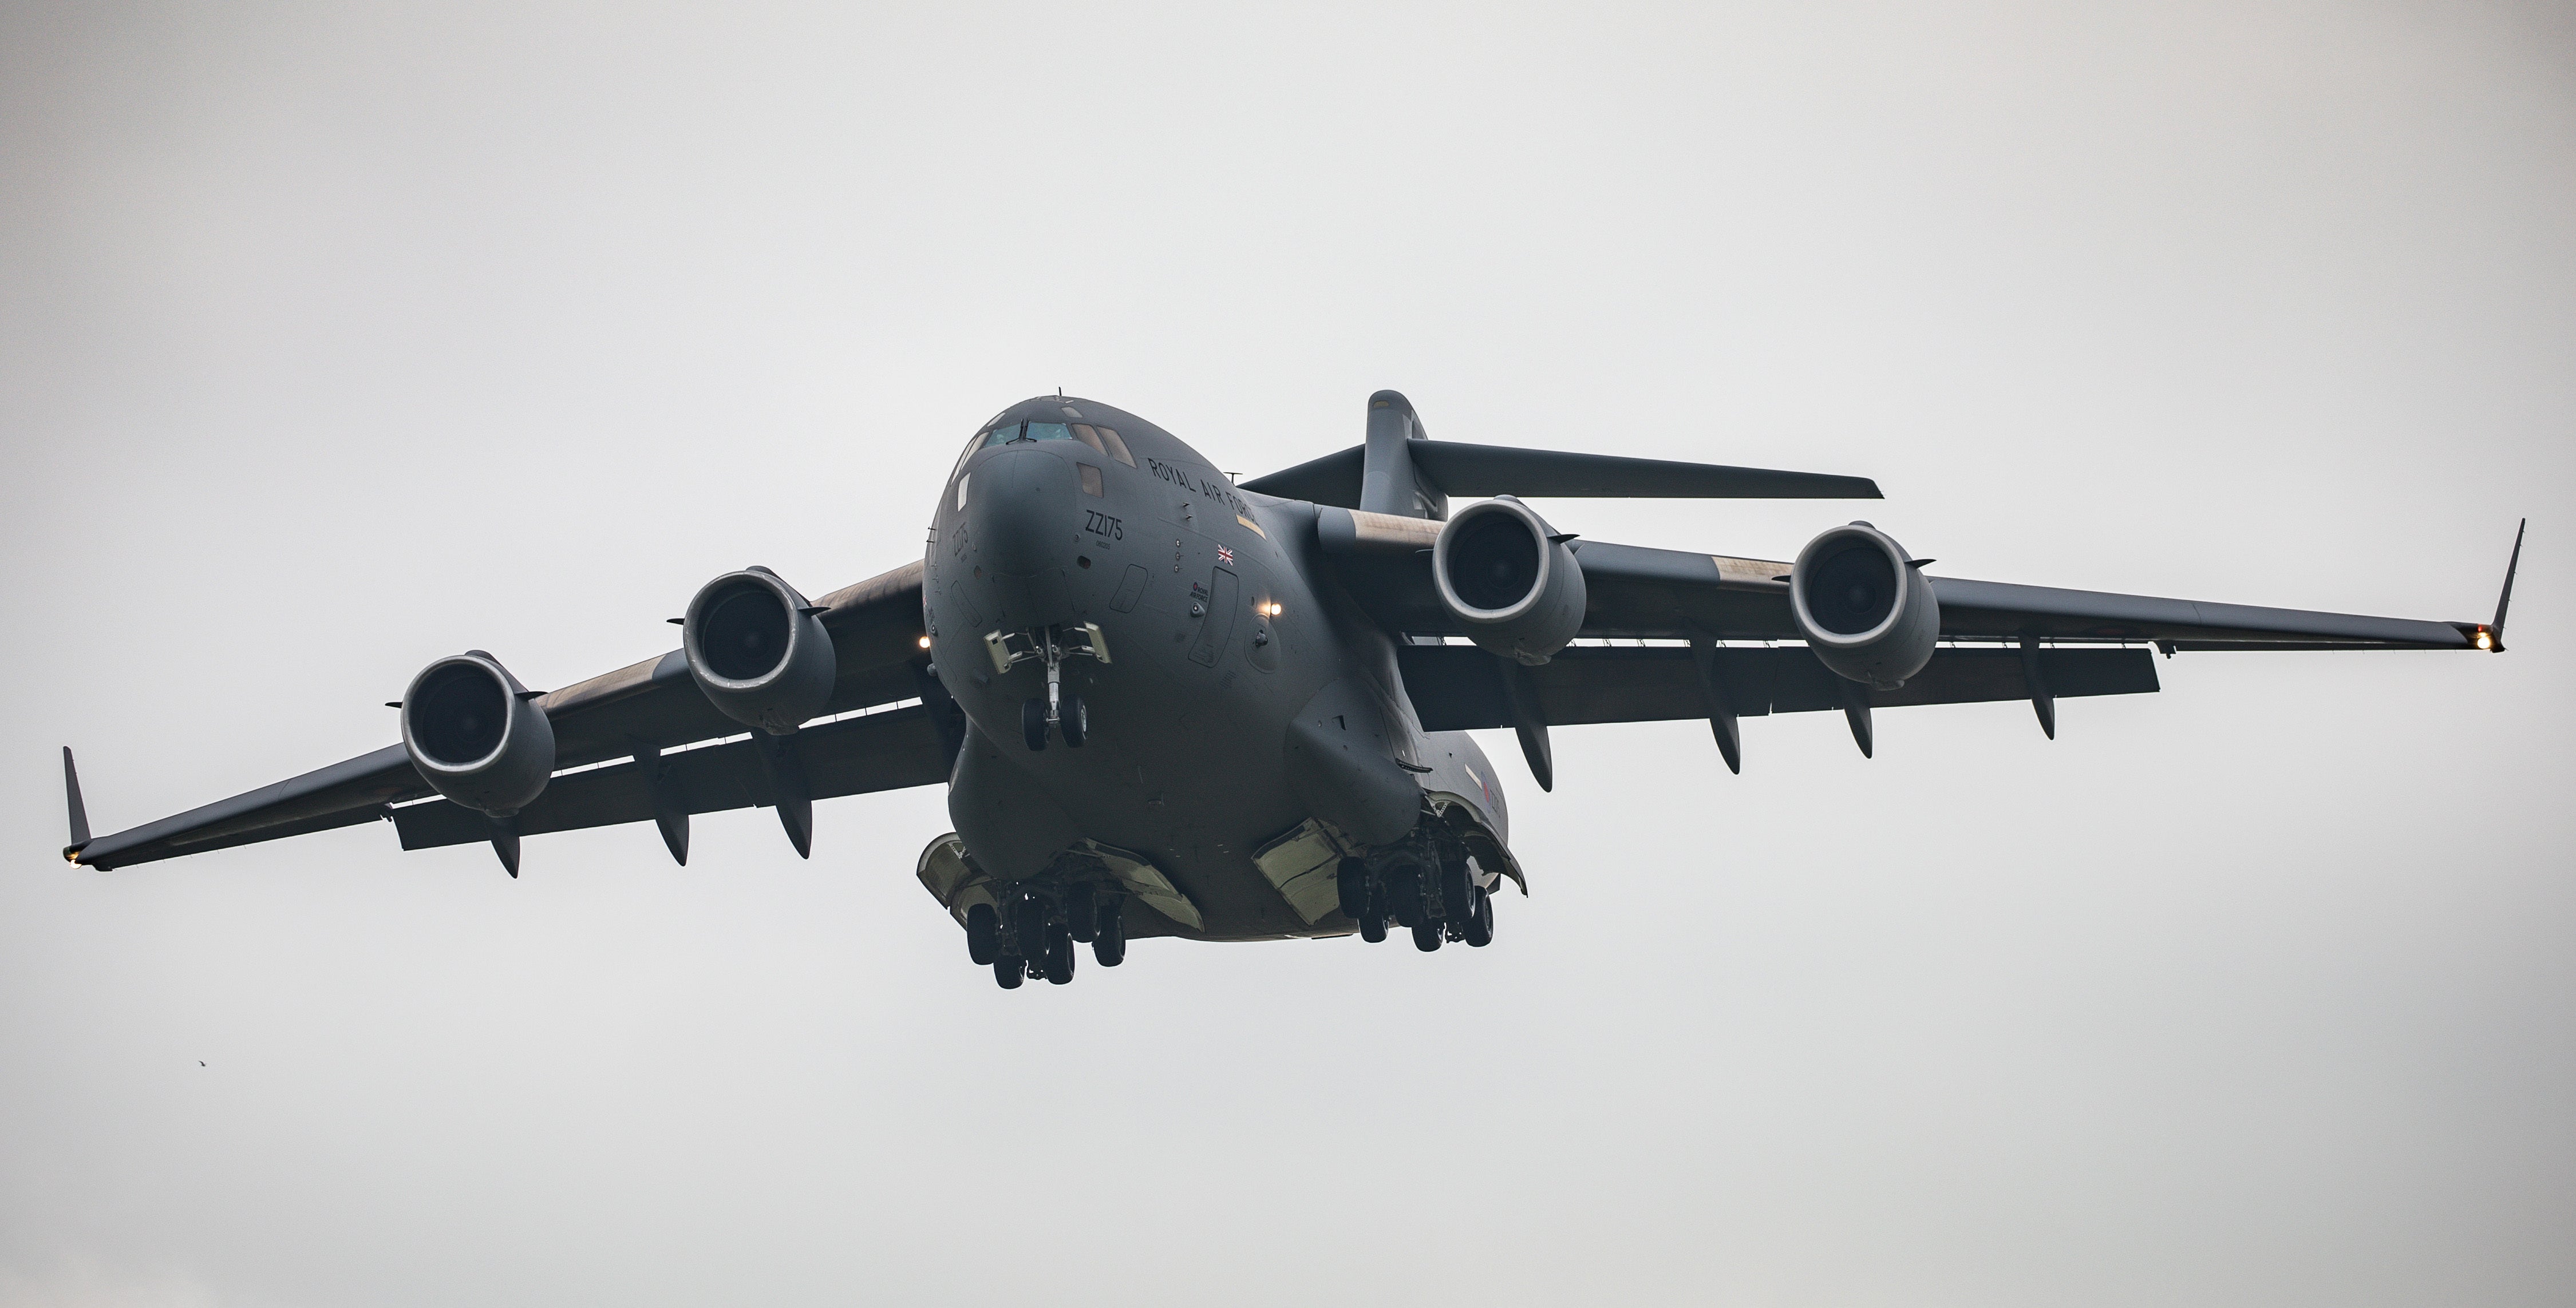
[[[1458,510],[1432,543],[1440,603],[1479,646],[1543,664],[1584,628],[1584,569],[1566,538],[1510,494]]]

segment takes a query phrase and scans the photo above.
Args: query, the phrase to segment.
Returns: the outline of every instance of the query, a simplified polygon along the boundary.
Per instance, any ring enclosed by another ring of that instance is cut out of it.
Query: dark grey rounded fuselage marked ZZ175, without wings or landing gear
[[[997,425],[1005,438],[979,435],[940,489],[922,587],[938,677],[969,718],[948,811],[989,875],[1038,878],[1090,839],[1146,855],[1198,904],[1206,922],[1167,935],[1340,935],[1347,919],[1306,922],[1252,852],[1309,819],[1368,845],[1368,798],[1345,790],[1378,785],[1383,811],[1383,778],[1401,778],[1404,803],[1455,796],[1507,839],[1494,767],[1466,734],[1422,731],[1396,636],[1319,556],[1314,505],[1242,492],[1087,399],[1030,399]],[[997,669],[987,636],[1082,623],[1110,654],[1061,664],[1090,739],[1028,749],[1023,705],[1043,700],[1046,672]],[[1347,736],[1350,760],[1293,767],[1301,713]]]

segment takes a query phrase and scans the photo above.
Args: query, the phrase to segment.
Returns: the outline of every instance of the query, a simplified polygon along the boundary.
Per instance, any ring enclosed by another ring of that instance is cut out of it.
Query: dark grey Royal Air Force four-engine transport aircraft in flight
[[[1450,507],[1450,497],[1479,497]],[[1363,445],[1234,484],[1090,399],[984,422],[922,559],[806,600],[752,566],[688,603],[680,649],[551,693],[479,649],[392,708],[402,742],[90,839],[124,868],[386,819],[404,850],[768,806],[809,855],[814,801],[948,785],[917,873],[1005,989],[1072,981],[1128,937],[1350,935],[1486,945],[1528,893],[1494,765],[1538,788],[1548,729],[1739,721],[2156,690],[2151,649],[2504,649],[2491,623],[2357,618],[1929,577],[1870,523],[1793,561],[1579,541],[1517,497],[1875,500],[1860,476],[1430,440],[1396,391]]]

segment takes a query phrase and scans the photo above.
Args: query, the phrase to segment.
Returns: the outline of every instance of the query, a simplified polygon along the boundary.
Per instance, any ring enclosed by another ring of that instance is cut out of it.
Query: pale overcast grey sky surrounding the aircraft
[[[2563,5],[0,5],[0,1303],[2566,1303],[2571,216]],[[2486,618],[2535,528],[2509,657],[1558,731],[1492,950],[1005,994],[935,790],[57,857],[57,744],[121,829],[657,654],[1056,386],[1953,577]]]

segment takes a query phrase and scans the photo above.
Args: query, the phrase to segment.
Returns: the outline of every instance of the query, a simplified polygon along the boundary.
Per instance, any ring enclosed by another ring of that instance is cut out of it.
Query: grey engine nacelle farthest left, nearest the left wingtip
[[[554,724],[482,649],[422,667],[402,693],[402,749],[440,796],[510,816],[554,775]]]

